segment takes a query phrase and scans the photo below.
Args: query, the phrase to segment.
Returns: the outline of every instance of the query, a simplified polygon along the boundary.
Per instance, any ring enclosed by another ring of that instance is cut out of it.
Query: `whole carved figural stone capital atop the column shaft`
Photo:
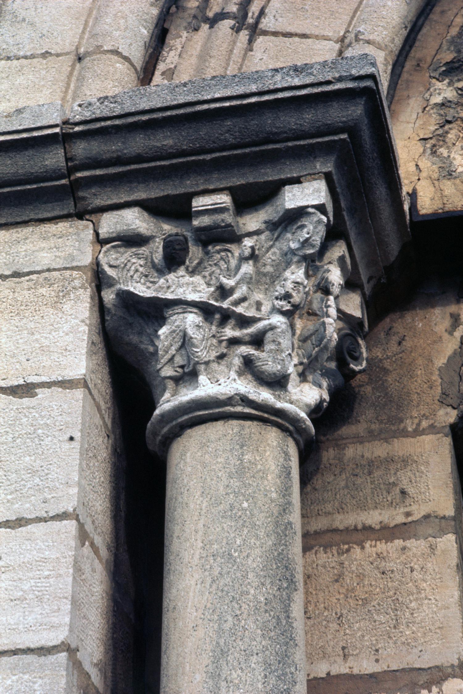
[[[191,223],[137,209],[103,216],[106,237],[123,240],[98,266],[112,345],[155,400],[148,446],[163,454],[186,426],[238,416],[290,431],[304,450],[311,418],[366,366],[365,309],[344,287],[346,244],[327,237],[324,180],[239,215],[227,191],[197,196]],[[124,214],[144,226],[124,227]]]

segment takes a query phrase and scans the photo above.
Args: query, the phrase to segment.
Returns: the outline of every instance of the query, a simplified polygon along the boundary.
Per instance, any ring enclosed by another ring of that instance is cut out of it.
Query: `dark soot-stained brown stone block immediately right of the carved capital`
[[[368,369],[333,398],[317,421],[319,439],[398,437],[455,421],[462,397],[458,281],[426,281],[376,325],[366,338]]]

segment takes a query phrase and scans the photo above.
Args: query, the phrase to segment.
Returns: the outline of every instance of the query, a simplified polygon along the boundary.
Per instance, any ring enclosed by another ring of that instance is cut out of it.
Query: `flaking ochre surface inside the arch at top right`
[[[461,210],[463,9],[441,0],[414,44],[391,108],[403,183],[420,214]]]

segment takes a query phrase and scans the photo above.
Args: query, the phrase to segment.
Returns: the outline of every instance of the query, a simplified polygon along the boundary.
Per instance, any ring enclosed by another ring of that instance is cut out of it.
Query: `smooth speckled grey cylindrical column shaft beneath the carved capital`
[[[260,421],[168,452],[162,694],[306,692],[299,456]]]

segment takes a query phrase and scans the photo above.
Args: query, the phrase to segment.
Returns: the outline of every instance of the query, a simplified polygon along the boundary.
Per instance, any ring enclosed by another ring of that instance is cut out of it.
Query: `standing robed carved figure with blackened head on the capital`
[[[166,392],[159,404],[175,395],[175,381],[184,372],[195,369],[198,386],[210,384],[206,365],[216,355],[209,323],[202,312],[191,305],[182,304],[182,298],[208,298],[211,288],[199,276],[191,276],[184,266],[189,254],[188,239],[182,234],[169,235],[162,244],[167,269],[166,277],[157,282],[157,294],[178,299],[178,303],[164,307],[166,323],[159,330],[157,371],[164,378]]]

